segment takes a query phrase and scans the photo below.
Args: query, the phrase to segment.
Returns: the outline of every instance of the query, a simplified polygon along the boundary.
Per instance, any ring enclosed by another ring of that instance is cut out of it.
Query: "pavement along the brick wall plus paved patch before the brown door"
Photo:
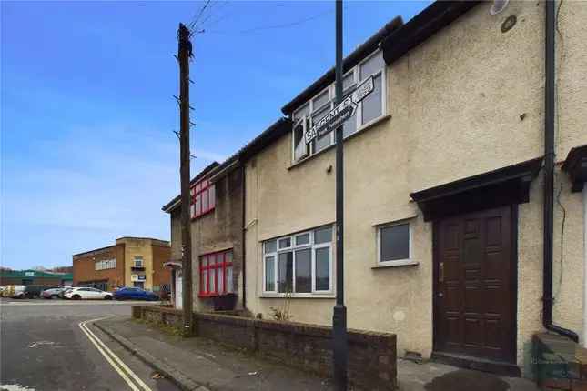
[[[170,329],[116,316],[96,322],[181,389],[197,390],[331,390],[329,379],[250,356],[244,350],[205,338],[182,338]],[[494,376],[454,366],[398,360],[398,385],[405,391],[535,391],[528,379]]]

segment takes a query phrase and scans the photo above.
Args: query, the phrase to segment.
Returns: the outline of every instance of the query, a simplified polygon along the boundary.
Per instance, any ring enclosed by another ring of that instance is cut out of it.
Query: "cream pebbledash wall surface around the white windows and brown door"
[[[544,2],[477,5],[385,69],[387,115],[345,142],[345,297],[349,327],[398,335],[398,353],[432,352],[432,224],[410,193],[541,157],[544,132]],[[517,23],[503,33],[504,20]],[[554,322],[582,330],[582,200],[562,160],[587,143],[587,3],[565,2],[557,75]],[[292,164],[291,135],[246,164],[248,309],[268,317],[282,298],[263,294],[262,242],[335,220],[335,153]],[[542,176],[519,206],[517,353],[528,366],[541,326]],[[377,266],[376,226],[408,220],[416,266]],[[334,243],[332,254],[335,254]],[[334,262],[333,262],[334,263]],[[336,271],[332,270],[332,276]],[[336,286],[336,284],[333,284]],[[298,322],[329,325],[334,295],[293,297]],[[528,371],[528,367],[525,368]]]

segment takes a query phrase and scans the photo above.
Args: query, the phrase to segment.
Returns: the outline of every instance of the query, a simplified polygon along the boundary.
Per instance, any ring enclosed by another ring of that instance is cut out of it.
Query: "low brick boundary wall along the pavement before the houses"
[[[133,306],[133,317],[181,330],[182,313],[170,307]],[[332,375],[332,329],[242,316],[195,313],[197,336],[245,347],[319,376]],[[349,329],[349,382],[361,389],[397,389],[396,335]]]

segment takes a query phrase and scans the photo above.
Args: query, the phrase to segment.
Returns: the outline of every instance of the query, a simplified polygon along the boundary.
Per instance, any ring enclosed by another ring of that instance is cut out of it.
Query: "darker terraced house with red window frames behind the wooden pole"
[[[242,309],[243,291],[243,168],[238,155],[222,165],[213,163],[190,183],[192,281],[194,308]],[[163,206],[171,222],[172,296],[182,306],[181,200]]]

